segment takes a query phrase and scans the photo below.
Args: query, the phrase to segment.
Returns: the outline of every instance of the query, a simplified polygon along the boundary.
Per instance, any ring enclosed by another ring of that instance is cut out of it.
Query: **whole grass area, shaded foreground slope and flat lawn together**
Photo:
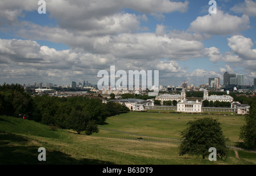
[[[232,144],[241,142],[238,134],[245,122],[243,116],[208,116],[218,119],[225,137]],[[98,134],[87,136],[84,133],[78,135],[72,130],[52,130],[34,121],[0,116],[0,164],[256,164],[256,153],[237,149],[229,149],[225,161],[209,161],[201,156],[179,156],[179,143],[175,143],[180,139],[179,131],[196,117],[206,115],[121,114],[108,118],[105,125],[99,126]],[[131,140],[138,137],[151,141]],[[46,148],[47,161],[38,161],[39,147]]]

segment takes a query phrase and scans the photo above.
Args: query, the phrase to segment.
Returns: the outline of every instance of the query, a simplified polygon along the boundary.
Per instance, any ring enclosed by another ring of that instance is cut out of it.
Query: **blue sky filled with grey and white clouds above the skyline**
[[[160,85],[256,78],[256,1],[0,1],[0,84],[97,84],[100,70],[159,70]]]

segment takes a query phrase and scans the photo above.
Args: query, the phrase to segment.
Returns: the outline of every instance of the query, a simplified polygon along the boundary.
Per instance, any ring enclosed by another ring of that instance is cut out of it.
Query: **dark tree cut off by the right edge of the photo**
[[[256,97],[252,98],[249,114],[245,117],[246,124],[241,127],[240,139],[243,140],[246,147],[256,148]]]

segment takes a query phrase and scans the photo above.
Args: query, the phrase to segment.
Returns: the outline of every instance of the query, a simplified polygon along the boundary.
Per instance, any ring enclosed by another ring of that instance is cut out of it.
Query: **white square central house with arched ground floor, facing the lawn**
[[[200,113],[202,110],[202,102],[201,101],[187,101],[181,100],[177,103],[177,111],[178,112],[187,112],[187,113]]]

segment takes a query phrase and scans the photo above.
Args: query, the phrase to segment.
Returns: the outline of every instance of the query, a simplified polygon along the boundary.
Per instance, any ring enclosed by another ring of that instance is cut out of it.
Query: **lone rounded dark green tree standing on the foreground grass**
[[[201,155],[205,158],[209,154],[209,148],[214,147],[217,150],[217,157],[226,157],[226,139],[216,119],[200,118],[189,121],[187,125],[189,127],[181,131],[183,141],[179,146],[180,155]]]

